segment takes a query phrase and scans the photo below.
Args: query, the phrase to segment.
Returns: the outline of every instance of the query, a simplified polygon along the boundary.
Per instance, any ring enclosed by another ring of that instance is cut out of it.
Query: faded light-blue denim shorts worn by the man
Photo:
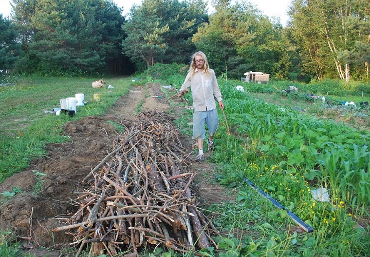
[[[206,138],[206,126],[210,135],[214,135],[218,127],[218,114],[217,109],[210,111],[194,111],[193,113],[193,139]]]

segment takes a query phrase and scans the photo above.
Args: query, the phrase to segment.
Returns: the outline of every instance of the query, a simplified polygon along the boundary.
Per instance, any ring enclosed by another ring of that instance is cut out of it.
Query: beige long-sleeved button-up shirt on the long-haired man
[[[192,92],[194,110],[196,111],[210,111],[215,109],[215,98],[218,102],[222,101],[216,74],[212,69],[209,69],[208,74],[199,72],[196,69],[193,76],[189,72],[180,91],[187,89],[189,86]]]

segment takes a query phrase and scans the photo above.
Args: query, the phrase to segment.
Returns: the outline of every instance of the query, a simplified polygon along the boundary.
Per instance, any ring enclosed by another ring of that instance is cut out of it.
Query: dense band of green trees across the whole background
[[[0,68],[23,74],[132,74],[204,51],[222,77],[369,80],[370,2],[292,0],[283,27],[248,1],[12,0],[0,16]]]

